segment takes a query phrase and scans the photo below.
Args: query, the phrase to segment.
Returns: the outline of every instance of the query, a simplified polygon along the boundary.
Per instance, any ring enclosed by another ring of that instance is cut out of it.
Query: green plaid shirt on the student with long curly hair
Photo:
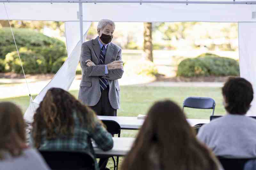
[[[42,141],[39,150],[84,150],[91,152],[94,156],[91,139],[95,141],[100,149],[108,151],[113,148],[112,135],[100,124],[95,116],[95,128],[82,128],[76,113],[73,114],[75,119],[75,128],[73,136],[61,136],[54,139],[47,139],[46,133],[42,133]],[[98,163],[95,159],[95,170],[99,170]]]

